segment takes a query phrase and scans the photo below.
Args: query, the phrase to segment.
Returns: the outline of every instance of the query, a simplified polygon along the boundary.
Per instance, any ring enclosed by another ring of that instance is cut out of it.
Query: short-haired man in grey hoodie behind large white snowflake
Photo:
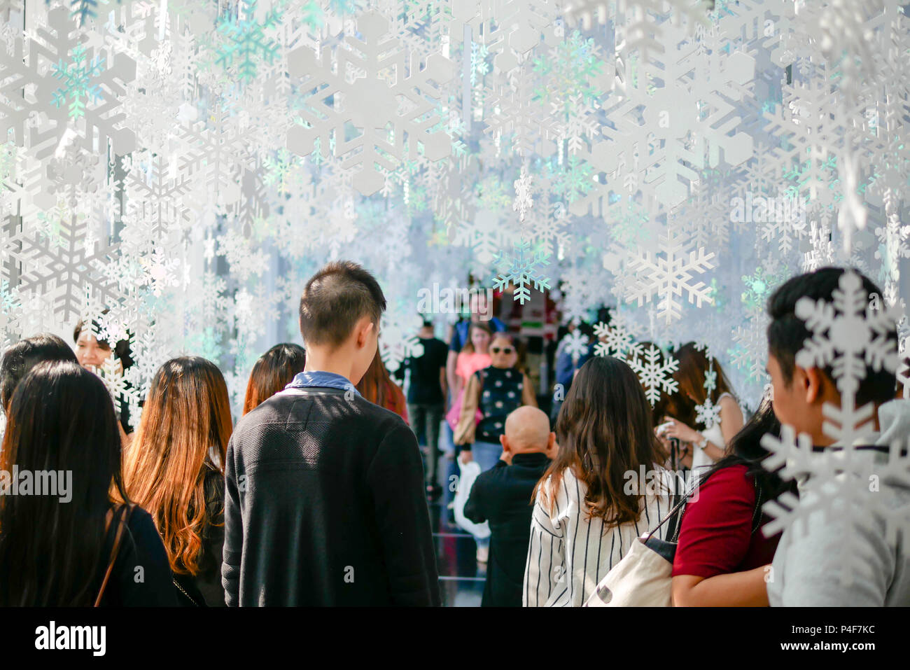
[[[773,410],[781,423],[809,435],[818,451],[804,454],[805,472],[796,473],[807,523],[789,526],[778,544],[766,577],[772,605],[910,604],[910,555],[901,533],[888,527],[910,505],[908,482],[883,476],[873,487],[865,477],[882,472],[889,447],[905,447],[910,434],[910,401],[894,400],[895,324],[874,307],[881,296],[854,270],[824,268],[788,280],[768,301]],[[827,316],[818,318],[820,313]],[[856,350],[863,336],[871,341]],[[849,445],[855,450],[851,472],[833,467],[832,479],[811,476],[824,470],[814,459],[844,453],[838,431],[824,430],[834,418],[824,405],[850,410],[867,403],[869,421],[839,427],[860,436]],[[832,486],[845,486],[851,495],[835,496],[825,514]],[[863,569],[854,571],[856,565]],[[852,573],[849,584],[841,579],[844,567]]]

